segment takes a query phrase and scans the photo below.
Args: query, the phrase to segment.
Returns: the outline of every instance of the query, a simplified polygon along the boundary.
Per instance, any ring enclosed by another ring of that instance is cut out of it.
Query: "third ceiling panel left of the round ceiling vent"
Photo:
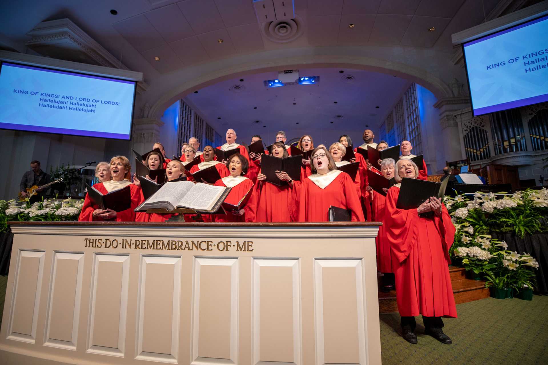
[[[152,10],[145,13],[145,16],[167,43],[194,35],[189,22],[176,4]]]

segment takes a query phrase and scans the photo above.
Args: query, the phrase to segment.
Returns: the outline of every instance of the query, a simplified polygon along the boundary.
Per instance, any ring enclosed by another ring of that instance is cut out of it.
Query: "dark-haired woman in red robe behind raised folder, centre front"
[[[272,155],[279,158],[288,157],[286,147],[282,141],[272,144]],[[296,221],[293,201],[293,180],[286,172],[276,173],[280,180],[288,181],[288,185],[278,186],[269,183],[266,175],[257,176],[256,186],[259,192],[257,207],[258,222],[292,222]]]

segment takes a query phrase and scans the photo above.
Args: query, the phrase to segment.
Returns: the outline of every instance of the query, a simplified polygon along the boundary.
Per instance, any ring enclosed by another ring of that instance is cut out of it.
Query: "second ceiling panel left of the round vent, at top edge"
[[[213,0],[186,0],[177,5],[196,34],[225,27]]]

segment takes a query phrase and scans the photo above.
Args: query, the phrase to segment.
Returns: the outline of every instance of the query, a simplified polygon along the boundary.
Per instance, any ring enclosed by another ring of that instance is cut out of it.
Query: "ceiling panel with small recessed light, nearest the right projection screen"
[[[413,16],[409,27],[402,39],[403,45],[412,45],[414,47],[432,47],[439,36],[443,33],[449,24],[447,18],[435,18],[433,16]],[[435,27],[436,31],[429,32],[430,27]]]

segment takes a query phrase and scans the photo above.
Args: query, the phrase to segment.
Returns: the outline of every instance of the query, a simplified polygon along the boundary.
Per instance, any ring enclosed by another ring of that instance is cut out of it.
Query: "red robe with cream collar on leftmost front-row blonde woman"
[[[104,184],[107,184],[109,186],[109,190],[106,189]],[[82,212],[80,212],[80,215],[78,217],[78,220],[81,222],[91,222],[91,221],[116,221],[116,222],[133,222],[135,221],[135,212],[133,209],[137,208],[139,204],[141,203],[142,199],[142,193],[141,188],[137,185],[134,185],[130,183],[127,180],[122,181],[105,181],[105,183],[97,183],[94,184],[93,187],[100,191],[102,194],[107,194],[111,191],[115,191],[118,189],[122,189],[123,187],[129,185],[130,194],[132,198],[132,205],[129,209],[122,210],[121,212],[116,212],[116,218],[111,220],[105,220],[99,217],[93,216],[93,211],[95,209],[99,209],[99,206],[96,206],[92,203],[92,201],[89,199],[89,194],[85,195],[84,198],[84,205],[82,206]]]

